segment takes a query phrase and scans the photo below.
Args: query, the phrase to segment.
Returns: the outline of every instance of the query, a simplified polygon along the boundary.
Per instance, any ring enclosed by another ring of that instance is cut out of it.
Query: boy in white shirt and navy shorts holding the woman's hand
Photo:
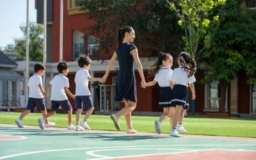
[[[90,96],[90,90],[88,88],[89,81],[99,81],[103,83],[103,79],[90,77],[89,69],[91,61],[92,60],[90,60],[88,56],[81,56],[78,60],[78,65],[80,69],[76,72],[76,76],[74,77],[74,82],[76,83],[76,97],[74,100],[74,108],[77,109],[76,131],[83,131],[84,129],[90,130],[90,127],[87,124],[87,120],[92,114],[94,106],[92,103],[92,98]],[[85,118],[80,122],[80,116],[83,108],[88,110],[85,113]]]

